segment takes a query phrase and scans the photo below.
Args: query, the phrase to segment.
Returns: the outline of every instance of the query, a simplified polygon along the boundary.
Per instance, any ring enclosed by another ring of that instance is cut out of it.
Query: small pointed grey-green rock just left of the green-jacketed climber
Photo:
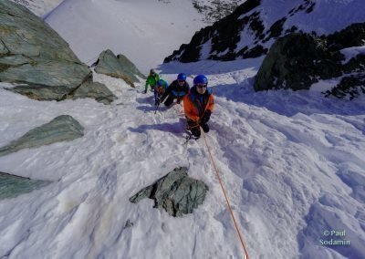
[[[113,78],[121,78],[132,88],[135,87],[134,83],[140,82],[136,76],[145,78],[127,57],[123,55],[116,57],[110,49],[100,53],[95,65],[95,72]]]

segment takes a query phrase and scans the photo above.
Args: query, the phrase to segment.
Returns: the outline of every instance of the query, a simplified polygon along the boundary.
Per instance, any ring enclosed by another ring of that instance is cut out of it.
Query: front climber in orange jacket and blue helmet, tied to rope
[[[193,79],[193,88],[183,98],[183,109],[188,128],[195,138],[198,139],[201,135],[200,127],[204,132],[209,131],[207,122],[214,109],[214,95],[212,89],[208,88],[208,78],[204,75]]]

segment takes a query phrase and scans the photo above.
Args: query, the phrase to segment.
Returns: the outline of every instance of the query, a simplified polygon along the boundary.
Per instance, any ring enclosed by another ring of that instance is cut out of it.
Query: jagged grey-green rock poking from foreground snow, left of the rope
[[[192,213],[203,203],[209,188],[203,181],[188,177],[187,171],[185,167],[174,169],[130,197],[130,202],[150,198],[154,200],[155,208],[163,209],[174,217]]]

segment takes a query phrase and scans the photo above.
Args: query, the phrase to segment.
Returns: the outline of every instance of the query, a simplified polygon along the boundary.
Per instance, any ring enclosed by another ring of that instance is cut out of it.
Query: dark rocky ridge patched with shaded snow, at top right
[[[292,32],[328,35],[365,21],[362,0],[248,0],[230,16],[204,27],[165,62],[260,57],[278,36]]]

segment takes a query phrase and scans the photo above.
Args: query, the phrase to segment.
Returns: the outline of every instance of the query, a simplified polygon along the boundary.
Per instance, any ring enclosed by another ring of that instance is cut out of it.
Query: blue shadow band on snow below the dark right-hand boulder
[[[254,81],[255,78],[247,78],[241,84],[215,86],[213,88],[214,95],[255,107],[266,108],[287,117],[292,117],[297,113],[306,115],[363,115],[365,113],[365,104],[360,98],[351,101],[325,98],[321,93],[309,90],[280,89],[255,92]]]

